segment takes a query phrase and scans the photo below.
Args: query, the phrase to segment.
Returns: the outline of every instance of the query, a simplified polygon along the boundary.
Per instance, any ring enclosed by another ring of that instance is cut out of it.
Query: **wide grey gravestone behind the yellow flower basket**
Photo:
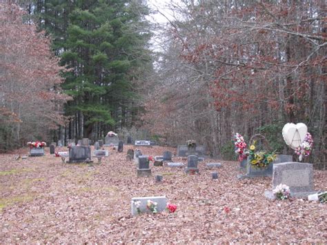
[[[291,155],[277,155],[275,161],[271,162],[266,168],[252,168],[250,159],[248,159],[246,175],[237,175],[237,178],[246,179],[253,177],[271,177],[273,176],[273,166],[275,164],[292,161],[292,159],[293,157]]]

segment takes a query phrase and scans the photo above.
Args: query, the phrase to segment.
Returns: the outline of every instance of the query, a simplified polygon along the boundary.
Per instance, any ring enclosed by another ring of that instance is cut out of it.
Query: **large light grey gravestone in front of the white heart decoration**
[[[273,190],[279,184],[290,188],[290,197],[308,197],[316,193],[313,190],[313,164],[284,162],[273,166]],[[273,191],[266,191],[265,196],[274,199]]]

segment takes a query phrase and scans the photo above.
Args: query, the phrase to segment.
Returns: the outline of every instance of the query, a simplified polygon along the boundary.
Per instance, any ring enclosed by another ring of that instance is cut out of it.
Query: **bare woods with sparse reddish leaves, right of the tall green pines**
[[[197,139],[233,158],[231,137],[266,135],[288,150],[281,128],[304,122],[311,161],[326,163],[324,1],[182,1],[171,5],[166,52],[146,108],[152,132],[170,144]],[[159,117],[161,116],[161,117]],[[159,130],[159,132],[158,132]]]

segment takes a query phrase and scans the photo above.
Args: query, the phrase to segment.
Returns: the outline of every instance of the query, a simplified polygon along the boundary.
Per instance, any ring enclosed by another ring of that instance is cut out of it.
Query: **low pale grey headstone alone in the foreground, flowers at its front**
[[[133,197],[130,202],[131,206],[131,214],[132,216],[138,215],[138,213],[151,213],[151,211],[147,208],[148,200],[152,202],[157,202],[157,210],[158,212],[162,212],[166,210],[167,199],[166,197]],[[135,202],[139,202],[139,212],[137,211],[137,206]]]

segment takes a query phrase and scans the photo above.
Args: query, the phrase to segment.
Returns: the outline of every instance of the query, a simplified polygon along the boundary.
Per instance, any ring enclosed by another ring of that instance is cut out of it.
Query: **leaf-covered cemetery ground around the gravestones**
[[[92,166],[63,164],[49,148],[44,157],[1,155],[0,243],[327,243],[326,204],[269,201],[264,190],[271,189],[270,177],[239,180],[239,163],[220,161],[221,168],[210,170],[208,159],[199,162],[199,175],[150,164],[152,177],[137,177],[136,164],[126,160],[128,148],[135,146],[124,146],[123,153],[109,148],[110,157]],[[141,150],[176,153],[159,146]],[[155,182],[155,175],[163,181]],[[326,179],[326,171],[315,170],[315,190],[326,190]],[[177,205],[175,213],[130,215],[132,197],[161,195]]]

